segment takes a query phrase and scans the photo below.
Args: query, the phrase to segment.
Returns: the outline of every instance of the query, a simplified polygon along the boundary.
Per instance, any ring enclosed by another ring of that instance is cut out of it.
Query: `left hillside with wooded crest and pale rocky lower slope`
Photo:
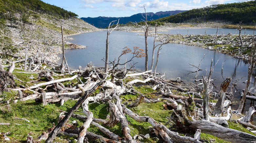
[[[29,56],[57,61],[56,54],[62,53],[61,25],[65,35],[98,30],[75,13],[40,0],[0,0],[0,5],[0,53],[4,55],[18,50],[18,55],[23,56],[28,49]],[[65,46],[69,47],[69,43]]]

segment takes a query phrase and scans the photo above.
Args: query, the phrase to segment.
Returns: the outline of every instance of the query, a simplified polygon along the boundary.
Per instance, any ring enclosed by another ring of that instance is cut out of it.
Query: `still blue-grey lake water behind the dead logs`
[[[215,31],[214,28],[207,28]],[[207,30],[206,29],[206,30]],[[187,29],[177,29],[179,33],[187,31]],[[182,31],[183,30],[183,31]],[[194,29],[189,29],[194,30]],[[196,31],[203,31],[204,34],[205,29],[197,29]],[[235,29],[228,29],[230,31]],[[249,31],[249,30],[246,30]],[[215,31],[216,33],[216,31]],[[228,32],[227,32],[228,33]],[[197,33],[195,33],[197,34]],[[67,62],[70,68],[78,69],[78,66],[85,67],[90,61],[97,66],[104,66],[104,62],[101,60],[105,56],[105,48],[106,48],[106,36],[107,31],[98,31],[98,32],[89,32],[83,33],[79,35],[71,36],[74,40],[70,40],[70,42],[86,45],[85,49],[73,49],[73,50],[65,50],[65,56],[67,58]],[[149,53],[149,68],[152,59],[152,47],[153,47],[153,37],[148,37],[148,53]],[[133,49],[134,46],[140,47],[144,49],[145,41],[144,37],[138,35],[138,33],[133,32],[123,32],[123,31],[113,31],[109,36],[109,60],[113,61],[116,57],[120,56],[121,51],[124,47],[128,47]],[[158,42],[160,43],[160,42]],[[157,43],[157,44],[158,44]],[[156,51],[157,52],[157,51]],[[157,66],[157,72],[163,74],[165,73],[166,79],[176,79],[177,77],[181,77],[181,79],[186,82],[188,85],[195,80],[196,68],[191,68],[190,64],[198,66],[201,59],[203,58],[200,68],[202,71],[198,72],[197,78],[202,78],[202,75],[208,75],[211,58],[213,59],[213,65],[216,64],[214,68],[214,72],[212,74],[212,79],[215,79],[214,84],[216,89],[219,90],[221,82],[226,77],[231,77],[233,81],[231,83],[236,82],[236,80],[240,79],[237,82],[236,88],[238,92],[234,93],[233,105],[232,109],[237,109],[237,103],[240,101],[240,95],[242,89],[245,88],[245,84],[242,83],[247,80],[248,73],[248,64],[245,60],[233,58],[230,55],[222,54],[217,51],[210,51],[203,49],[202,47],[196,46],[187,46],[182,44],[174,44],[168,43],[162,46],[162,50],[160,51],[159,63]],[[62,57],[60,55],[60,57]],[[131,58],[131,54],[124,55],[121,59],[125,61],[125,59]],[[155,57],[156,59],[156,57]],[[217,62],[218,61],[218,62]],[[61,61],[60,61],[61,62]],[[133,61],[138,62],[135,66],[136,69],[144,71],[144,58],[136,58]],[[224,63],[223,75],[221,74],[222,64]],[[255,76],[255,73],[253,77]],[[242,78],[242,79],[241,79]],[[252,82],[254,78],[252,79]],[[231,85],[231,84],[230,84]],[[230,91],[230,89],[228,89]],[[234,90],[235,91],[235,90]],[[246,99],[245,101],[245,110],[247,111],[250,106],[254,106],[254,101]],[[244,111],[245,112],[245,111]],[[256,120],[253,118],[253,120]]]

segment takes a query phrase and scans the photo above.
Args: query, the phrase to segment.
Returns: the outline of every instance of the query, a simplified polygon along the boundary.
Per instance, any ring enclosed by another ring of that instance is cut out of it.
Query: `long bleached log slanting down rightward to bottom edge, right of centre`
[[[122,105],[123,110],[125,114],[129,115],[132,119],[135,119],[138,122],[148,122],[152,125],[153,128],[157,129],[160,136],[163,138],[163,140],[166,143],[172,143],[172,139],[170,137],[183,140],[183,141],[191,141],[194,143],[202,143],[194,138],[186,137],[186,136],[180,136],[177,135],[177,133],[170,131],[166,126],[160,125],[158,122],[156,122],[153,118],[149,116],[139,116],[135,113],[133,113],[130,109],[126,108],[124,105]],[[170,136],[170,137],[169,137]]]

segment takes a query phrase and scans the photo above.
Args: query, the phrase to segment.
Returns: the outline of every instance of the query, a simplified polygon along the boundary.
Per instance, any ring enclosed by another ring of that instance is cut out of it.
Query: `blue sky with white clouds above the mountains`
[[[80,17],[126,17],[144,12],[189,10],[215,4],[247,0],[42,0],[45,3],[72,11]]]

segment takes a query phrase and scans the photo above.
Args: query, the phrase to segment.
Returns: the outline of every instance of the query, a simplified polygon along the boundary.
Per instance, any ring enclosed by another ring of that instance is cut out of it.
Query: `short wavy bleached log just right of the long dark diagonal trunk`
[[[77,137],[77,143],[83,143],[84,142],[84,136],[86,135],[87,129],[90,127],[91,122],[93,121],[93,113],[89,111],[88,109],[88,100],[85,100],[84,103],[82,103],[83,106],[83,113],[88,117],[87,120],[84,122],[83,126],[80,128],[80,133]]]

